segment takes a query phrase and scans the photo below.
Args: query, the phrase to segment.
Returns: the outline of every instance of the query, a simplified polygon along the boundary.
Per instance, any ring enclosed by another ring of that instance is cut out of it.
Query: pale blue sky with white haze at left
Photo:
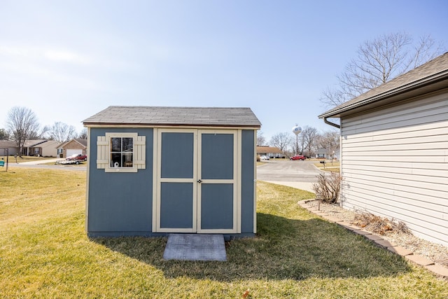
[[[445,0],[0,0],[0,128],[13,106],[78,132],[111,105],[245,106],[268,140],[323,132],[318,99],[361,43],[447,29]]]

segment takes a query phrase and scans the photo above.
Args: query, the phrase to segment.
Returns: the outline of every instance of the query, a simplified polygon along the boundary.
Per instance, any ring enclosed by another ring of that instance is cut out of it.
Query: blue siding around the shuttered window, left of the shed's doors
[[[146,136],[146,169],[136,173],[97,169],[97,137],[106,132]],[[91,128],[87,232],[90,235],[145,235],[151,232],[153,209],[153,129]]]

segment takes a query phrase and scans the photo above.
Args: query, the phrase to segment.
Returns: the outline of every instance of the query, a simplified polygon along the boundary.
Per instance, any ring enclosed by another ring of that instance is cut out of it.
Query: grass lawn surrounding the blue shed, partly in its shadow
[[[45,182],[45,183],[44,183]],[[89,239],[85,172],[0,172],[0,298],[447,298],[448,283],[258,182],[258,234],[228,262],[163,260],[165,237]]]

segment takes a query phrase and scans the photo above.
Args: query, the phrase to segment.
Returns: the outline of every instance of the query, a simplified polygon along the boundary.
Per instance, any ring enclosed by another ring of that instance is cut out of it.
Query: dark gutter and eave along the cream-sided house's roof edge
[[[445,81],[445,82],[442,82]],[[436,83],[444,83],[442,85],[436,84]],[[394,88],[392,90],[388,90],[386,92],[380,93],[379,95],[374,95],[372,97],[367,97],[366,99],[363,99],[358,102],[353,102],[352,104],[342,104],[339,105],[330,111],[327,111],[325,113],[322,113],[318,118],[325,119],[325,118],[340,118],[343,114],[350,114],[351,111],[358,111],[360,108],[365,108],[366,106],[370,106],[374,103],[385,101],[386,99],[391,99],[393,97],[397,97],[399,95],[405,94],[405,93],[412,93],[409,94],[409,96],[415,97],[417,95],[423,94],[423,92],[419,92],[418,90],[424,87],[428,87],[430,85],[433,85],[433,90],[426,88],[424,90],[424,93],[433,92],[435,90],[440,90],[442,88],[448,87],[448,70],[442,71],[438,74],[435,74],[433,76],[429,76],[427,78],[423,78],[419,81],[414,81],[412,83],[402,85],[398,88]]]

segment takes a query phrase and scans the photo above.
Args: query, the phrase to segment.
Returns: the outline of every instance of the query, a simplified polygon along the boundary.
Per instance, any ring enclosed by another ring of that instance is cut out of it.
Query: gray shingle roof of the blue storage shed
[[[83,120],[88,125],[193,125],[260,127],[250,108],[109,106]]]

